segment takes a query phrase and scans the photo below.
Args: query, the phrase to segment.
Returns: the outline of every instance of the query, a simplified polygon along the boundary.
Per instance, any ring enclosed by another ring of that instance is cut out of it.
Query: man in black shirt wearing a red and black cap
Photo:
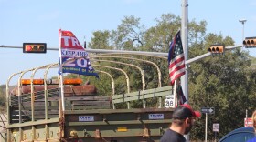
[[[187,135],[196,118],[201,117],[199,111],[194,111],[188,104],[177,106],[173,112],[172,124],[160,138],[160,142],[186,142]]]

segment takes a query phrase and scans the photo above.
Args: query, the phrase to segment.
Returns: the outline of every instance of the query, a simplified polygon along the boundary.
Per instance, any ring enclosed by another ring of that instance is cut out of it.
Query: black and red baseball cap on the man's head
[[[188,104],[177,106],[173,113],[174,119],[186,119],[187,117],[201,117],[199,111],[194,111]]]

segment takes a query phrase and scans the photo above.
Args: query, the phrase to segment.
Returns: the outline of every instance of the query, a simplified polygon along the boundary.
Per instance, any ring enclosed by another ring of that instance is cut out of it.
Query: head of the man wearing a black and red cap
[[[183,127],[185,129],[184,134],[188,134],[197,117],[201,117],[201,113],[194,111],[191,106],[187,104],[177,106],[173,112],[172,125]]]

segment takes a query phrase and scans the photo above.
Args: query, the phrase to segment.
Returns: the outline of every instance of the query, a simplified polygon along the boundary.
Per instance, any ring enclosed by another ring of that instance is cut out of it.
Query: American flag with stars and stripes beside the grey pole
[[[180,31],[177,32],[174,40],[170,44],[168,63],[170,84],[173,86],[176,78],[185,75],[185,58],[180,38]]]

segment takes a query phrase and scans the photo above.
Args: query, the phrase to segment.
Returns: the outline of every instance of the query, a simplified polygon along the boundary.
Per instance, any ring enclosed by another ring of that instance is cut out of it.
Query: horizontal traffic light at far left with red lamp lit
[[[46,43],[23,43],[23,53],[46,53]]]

